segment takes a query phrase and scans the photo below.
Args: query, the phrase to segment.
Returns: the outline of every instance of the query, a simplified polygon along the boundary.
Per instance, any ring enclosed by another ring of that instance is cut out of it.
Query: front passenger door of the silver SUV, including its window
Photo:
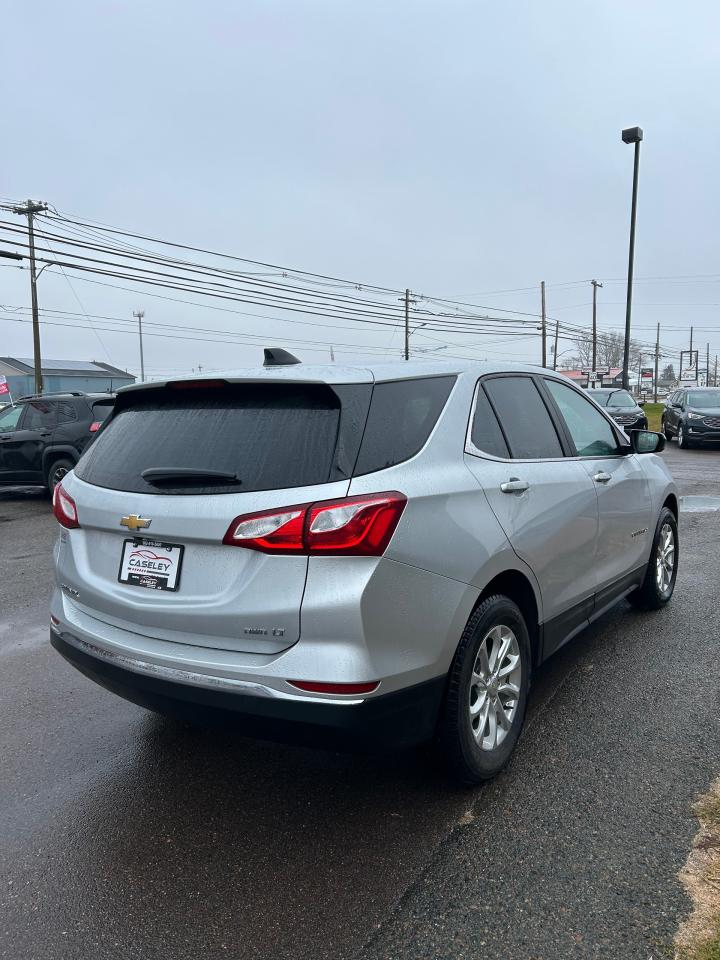
[[[654,535],[650,485],[635,454],[621,453],[608,420],[578,390],[543,383],[567,426],[573,453],[594,485],[599,528],[595,551],[598,605],[622,592],[624,579],[647,561]]]

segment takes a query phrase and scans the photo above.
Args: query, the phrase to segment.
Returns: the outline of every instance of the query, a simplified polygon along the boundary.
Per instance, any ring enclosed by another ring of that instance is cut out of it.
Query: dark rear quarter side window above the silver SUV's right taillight
[[[425,446],[455,377],[376,383],[355,476],[409,460]]]

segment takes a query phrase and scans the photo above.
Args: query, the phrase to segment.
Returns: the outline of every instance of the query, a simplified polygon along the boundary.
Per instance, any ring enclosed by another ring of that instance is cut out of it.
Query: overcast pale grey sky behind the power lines
[[[694,323],[696,342],[720,352],[716,0],[4,0],[0,9],[2,197],[508,309],[537,311],[545,279],[548,313],[561,322],[589,324],[591,300],[589,283],[561,284],[597,277],[601,326],[623,323],[632,148],[620,130],[639,124],[636,275],[672,279],[638,282],[635,335],[653,341],[659,320],[663,346],[676,350]],[[277,344],[400,346],[387,330],[219,314],[74,277],[72,286],[46,271],[41,306],[79,311],[79,298],[91,314],[144,308],[147,321]],[[522,287],[533,289],[494,292]],[[2,265],[0,303],[29,304],[27,271]],[[31,355],[30,325],[8,315],[0,354]],[[457,353],[540,358],[539,340],[451,339]],[[414,343],[438,345],[420,330]],[[328,356],[288,345],[307,360]],[[44,327],[43,351],[138,368],[134,337],[87,326]],[[256,362],[260,349],[148,337],[145,355],[160,374]]]

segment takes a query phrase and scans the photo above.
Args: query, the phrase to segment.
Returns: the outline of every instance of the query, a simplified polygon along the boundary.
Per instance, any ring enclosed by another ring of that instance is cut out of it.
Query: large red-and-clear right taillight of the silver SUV
[[[233,520],[223,543],[262,553],[379,557],[406,503],[391,490],[248,513]]]

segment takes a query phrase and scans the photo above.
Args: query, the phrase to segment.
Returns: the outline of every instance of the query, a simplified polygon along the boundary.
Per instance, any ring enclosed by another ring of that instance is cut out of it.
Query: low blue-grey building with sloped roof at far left
[[[0,357],[0,376],[7,377],[14,398],[35,392],[33,361],[26,357]],[[44,393],[79,390],[105,393],[117,390],[135,377],[99,360],[45,360],[42,365]]]

